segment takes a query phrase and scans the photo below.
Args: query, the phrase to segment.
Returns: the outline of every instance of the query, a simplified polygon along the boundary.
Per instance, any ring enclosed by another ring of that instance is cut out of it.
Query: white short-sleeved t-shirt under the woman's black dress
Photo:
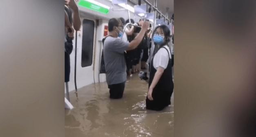
[[[164,69],[166,69],[169,59],[171,59],[170,48],[167,45],[165,45],[164,47],[168,50],[169,54],[165,48],[160,48],[158,52],[156,52],[153,59],[153,67],[155,69],[157,69],[158,67],[163,67]]]

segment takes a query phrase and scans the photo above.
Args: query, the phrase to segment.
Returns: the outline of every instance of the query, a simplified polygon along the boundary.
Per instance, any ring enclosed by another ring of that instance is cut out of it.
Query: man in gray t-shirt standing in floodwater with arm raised
[[[118,39],[118,37],[122,36],[122,22],[116,18],[109,20],[109,34],[104,41],[103,54],[110,98],[122,98],[126,81],[124,52],[125,50],[135,49],[139,45],[148,28],[149,22],[143,22],[140,33],[133,41],[131,41],[131,43],[129,43],[122,41],[122,39]]]

